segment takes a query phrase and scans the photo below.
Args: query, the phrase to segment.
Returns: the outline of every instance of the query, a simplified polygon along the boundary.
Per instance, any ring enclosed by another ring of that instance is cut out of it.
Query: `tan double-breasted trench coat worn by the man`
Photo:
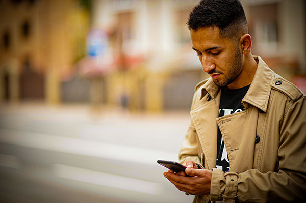
[[[245,111],[218,118],[220,91],[212,79],[197,85],[180,162],[213,169],[211,194],[194,202],[304,202],[306,199],[306,95],[258,56],[242,100]],[[211,98],[210,98],[211,97]],[[230,172],[216,169],[217,125]]]

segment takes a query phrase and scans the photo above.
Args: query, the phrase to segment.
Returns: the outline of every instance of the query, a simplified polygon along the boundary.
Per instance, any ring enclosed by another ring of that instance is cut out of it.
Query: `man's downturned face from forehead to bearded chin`
[[[203,71],[210,74],[217,86],[227,86],[239,79],[243,64],[238,42],[221,38],[217,27],[191,30],[190,35]]]

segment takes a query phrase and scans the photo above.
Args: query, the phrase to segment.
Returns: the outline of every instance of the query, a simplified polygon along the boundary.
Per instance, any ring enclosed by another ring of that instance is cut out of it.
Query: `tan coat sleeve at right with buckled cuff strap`
[[[277,171],[214,169],[211,200],[225,202],[304,202],[306,200],[306,97],[287,106],[279,131]]]

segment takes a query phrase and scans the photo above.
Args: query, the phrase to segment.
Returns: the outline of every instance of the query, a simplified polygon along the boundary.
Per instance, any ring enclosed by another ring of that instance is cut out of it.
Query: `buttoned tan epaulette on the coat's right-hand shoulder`
[[[292,101],[298,100],[303,93],[291,82],[282,77],[276,77],[271,80],[270,85],[273,89],[287,95]]]

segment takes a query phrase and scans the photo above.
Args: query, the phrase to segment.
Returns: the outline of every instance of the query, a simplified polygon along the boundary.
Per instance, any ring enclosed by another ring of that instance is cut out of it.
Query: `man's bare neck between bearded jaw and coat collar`
[[[246,85],[249,85],[253,81],[253,77],[257,70],[257,62],[254,60],[254,57],[251,53],[245,55],[243,61],[243,67],[240,75],[237,79],[231,84],[227,85],[228,89],[238,89],[243,88]]]

